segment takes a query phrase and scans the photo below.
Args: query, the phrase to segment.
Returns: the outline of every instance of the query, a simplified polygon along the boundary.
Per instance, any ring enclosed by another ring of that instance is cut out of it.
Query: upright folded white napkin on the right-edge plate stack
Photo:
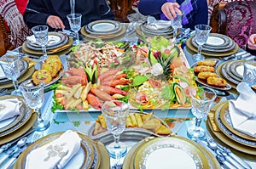
[[[245,82],[236,87],[239,96],[229,101],[230,119],[233,127],[256,138],[256,93]]]

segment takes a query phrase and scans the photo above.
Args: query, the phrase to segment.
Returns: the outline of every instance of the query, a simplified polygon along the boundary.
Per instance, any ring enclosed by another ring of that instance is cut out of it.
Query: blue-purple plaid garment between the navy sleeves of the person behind
[[[180,4],[179,9],[183,12],[183,25],[193,22],[193,15],[198,9],[197,1],[198,0],[184,0],[183,3]],[[175,0],[167,0],[167,2],[175,3]],[[160,14],[160,19],[168,20],[165,14]]]

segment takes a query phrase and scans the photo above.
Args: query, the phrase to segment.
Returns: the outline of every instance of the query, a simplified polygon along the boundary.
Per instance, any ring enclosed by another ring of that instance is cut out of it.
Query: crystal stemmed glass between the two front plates
[[[102,105],[102,114],[105,117],[108,131],[113,134],[114,142],[108,145],[108,153],[114,159],[124,157],[127,152],[125,144],[119,142],[119,137],[125,131],[126,117],[129,105],[118,100],[107,101]]]

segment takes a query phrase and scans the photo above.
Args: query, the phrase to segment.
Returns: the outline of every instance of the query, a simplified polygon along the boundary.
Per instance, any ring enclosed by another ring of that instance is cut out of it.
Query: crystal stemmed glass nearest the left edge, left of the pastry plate
[[[0,65],[2,67],[4,76],[11,80],[14,84],[15,90],[11,93],[12,95],[21,95],[18,77],[20,76],[20,57],[17,55],[6,55],[0,60]]]

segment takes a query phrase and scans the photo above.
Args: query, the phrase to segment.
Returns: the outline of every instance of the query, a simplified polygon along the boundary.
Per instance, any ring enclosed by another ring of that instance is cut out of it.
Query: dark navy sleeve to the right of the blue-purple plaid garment
[[[192,30],[195,30],[195,25],[204,24],[208,25],[208,5],[207,0],[198,0],[197,1],[198,9],[193,15],[193,21],[185,27],[189,27]]]

